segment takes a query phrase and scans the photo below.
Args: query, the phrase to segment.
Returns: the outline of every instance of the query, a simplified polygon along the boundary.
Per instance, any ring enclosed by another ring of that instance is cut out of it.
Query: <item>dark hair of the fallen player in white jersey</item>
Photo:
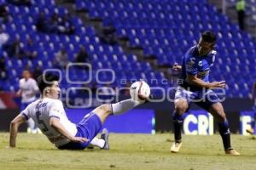
[[[43,94],[44,92],[44,88],[47,87],[51,87],[53,85],[54,81],[59,81],[60,77],[51,74],[51,73],[43,73],[41,76],[39,76],[37,78],[37,82],[38,82],[38,88],[41,92],[41,94]]]

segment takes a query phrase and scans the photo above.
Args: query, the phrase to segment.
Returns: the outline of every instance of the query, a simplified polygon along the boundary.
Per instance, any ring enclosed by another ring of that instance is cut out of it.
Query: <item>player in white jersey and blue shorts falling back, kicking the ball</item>
[[[70,122],[61,103],[59,77],[44,74],[38,77],[41,98],[28,105],[10,123],[9,146],[16,146],[18,127],[32,118],[49,141],[61,150],[84,150],[89,144],[108,149],[108,135],[103,132],[102,139],[95,136],[109,115],[119,115],[137,105],[143,104],[134,99],[126,99],[115,104],[104,104],[84,116],[79,124]]]

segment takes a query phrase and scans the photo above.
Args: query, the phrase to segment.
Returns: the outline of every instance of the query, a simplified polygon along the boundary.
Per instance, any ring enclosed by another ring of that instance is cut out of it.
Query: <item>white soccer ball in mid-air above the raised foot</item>
[[[133,82],[130,88],[130,95],[131,99],[137,101],[143,101],[145,99],[148,99],[150,95],[150,88],[148,86],[148,83],[144,81]]]

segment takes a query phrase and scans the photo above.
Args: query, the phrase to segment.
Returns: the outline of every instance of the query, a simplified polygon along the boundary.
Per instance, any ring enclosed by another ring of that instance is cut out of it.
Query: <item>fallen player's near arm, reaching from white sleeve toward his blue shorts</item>
[[[60,119],[55,116],[51,116],[49,118],[49,125],[55,129],[58,133],[61,133],[62,136],[66,137],[67,139],[71,140],[72,142],[79,142],[84,143],[89,141],[89,139],[81,138],[81,137],[74,137],[70,133],[67,132],[66,128],[60,122]]]

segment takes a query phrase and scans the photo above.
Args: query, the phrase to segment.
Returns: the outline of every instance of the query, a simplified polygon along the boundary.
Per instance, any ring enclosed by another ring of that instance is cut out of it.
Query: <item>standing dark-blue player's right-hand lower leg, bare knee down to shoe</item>
[[[224,113],[221,103],[211,105],[209,110],[218,121],[218,131],[222,138],[225,153],[228,155],[239,156],[240,153],[231,147],[230,142],[230,125]]]

